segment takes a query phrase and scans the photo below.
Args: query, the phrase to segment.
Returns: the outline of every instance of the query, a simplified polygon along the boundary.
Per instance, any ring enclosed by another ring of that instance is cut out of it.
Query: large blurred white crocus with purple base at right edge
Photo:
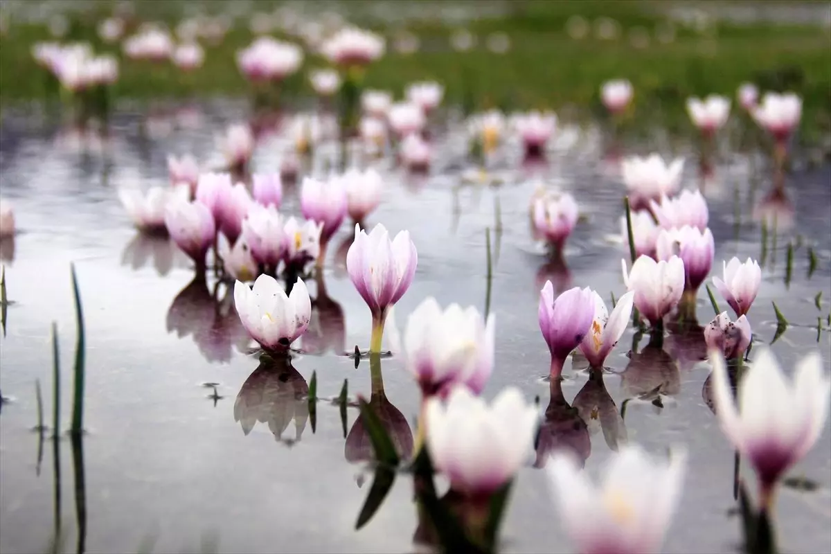
[[[715,351],[710,359],[715,414],[727,438],[755,468],[760,504],[768,508],[776,482],[822,433],[831,380],[814,352],[796,364],[791,384],[770,350],[762,348],[739,382],[736,409],[724,359]]]

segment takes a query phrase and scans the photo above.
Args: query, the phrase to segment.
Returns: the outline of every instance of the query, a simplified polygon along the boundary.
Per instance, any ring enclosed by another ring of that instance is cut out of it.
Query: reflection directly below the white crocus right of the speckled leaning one
[[[623,390],[630,397],[652,401],[661,407],[661,396],[681,391],[681,372],[676,360],[663,348],[661,337],[652,337],[640,352],[632,351],[621,377]]]

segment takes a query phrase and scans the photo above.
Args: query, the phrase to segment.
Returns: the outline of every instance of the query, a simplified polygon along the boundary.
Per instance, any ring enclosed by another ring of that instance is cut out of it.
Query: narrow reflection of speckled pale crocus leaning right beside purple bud
[[[586,423],[589,434],[603,432],[608,447],[617,452],[619,444],[627,442],[626,425],[617,411],[615,401],[603,383],[603,371],[597,368],[589,370],[588,381],[572,401],[572,407],[578,410],[580,418]]]

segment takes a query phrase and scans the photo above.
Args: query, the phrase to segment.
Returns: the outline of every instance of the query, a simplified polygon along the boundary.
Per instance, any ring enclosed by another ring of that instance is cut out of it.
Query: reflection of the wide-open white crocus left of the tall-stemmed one
[[[239,389],[234,401],[234,421],[248,435],[257,422],[267,424],[274,438],[291,446],[306,429],[308,385],[288,357],[274,360],[261,355],[259,365]],[[283,433],[294,421],[294,438]]]

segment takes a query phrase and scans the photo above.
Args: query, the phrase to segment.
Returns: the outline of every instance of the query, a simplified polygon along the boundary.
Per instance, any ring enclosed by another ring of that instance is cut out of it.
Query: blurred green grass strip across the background
[[[357,16],[365,12],[362,7],[367,2],[353,1],[356,20],[375,27]],[[162,2],[138,2],[139,12],[147,12],[148,3]],[[175,22],[170,17],[181,2],[164,3],[168,6],[165,12],[148,15]],[[262,10],[277,3],[262,2],[256,8]],[[425,9],[434,4],[435,0],[425,4]],[[440,21],[407,24],[406,29],[421,39],[420,51],[401,55],[389,41],[388,54],[367,71],[366,86],[400,92],[408,82],[435,79],[445,84],[446,101],[451,104],[470,97],[478,107],[558,110],[563,105],[575,105],[578,110],[598,111],[598,87],[620,76],[635,86],[637,113],[651,114],[656,105],[661,105],[683,115],[678,108],[687,96],[713,92],[735,97],[741,82],[754,81],[763,90],[790,90],[803,96],[803,119],[809,134],[831,129],[831,36],[826,29],[717,22],[698,32],[676,23],[675,40],[662,44],[655,40],[653,31],[656,25],[666,24],[664,12],[671,2],[514,0],[506,5],[510,12],[505,17],[467,26],[479,37],[479,46],[467,53],[450,48],[453,29]],[[78,16],[73,20],[72,35],[90,40],[103,51],[117,53],[115,48],[97,42],[95,24],[102,15],[100,8]],[[612,17],[620,24],[621,36],[612,41],[599,40],[591,33],[580,40],[568,37],[566,22],[573,15],[588,22]],[[206,47],[204,67],[189,76],[169,66],[150,68],[122,61],[116,96],[149,99],[247,94],[247,83],[235,63],[235,52],[252,39],[247,23],[238,21],[219,47]],[[628,32],[634,27],[646,29],[651,35],[647,47],[632,46]],[[404,27],[376,28],[391,37]],[[512,47],[507,54],[497,55],[484,48],[484,37],[494,31],[509,35]],[[0,102],[42,97],[44,77],[32,61],[31,47],[47,39],[44,28],[24,24],[13,25],[0,39]],[[303,71],[322,65],[321,60],[308,56]],[[292,94],[310,94],[304,74],[294,76],[287,88]]]

